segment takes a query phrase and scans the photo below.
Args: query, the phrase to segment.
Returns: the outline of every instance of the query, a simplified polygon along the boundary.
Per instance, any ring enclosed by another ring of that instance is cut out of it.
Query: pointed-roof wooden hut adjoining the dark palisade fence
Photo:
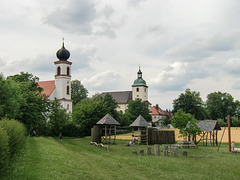
[[[148,122],[141,115],[130,125],[132,135],[134,135],[134,128],[138,128],[138,135],[134,135],[138,138],[138,144],[148,145],[148,125]]]

